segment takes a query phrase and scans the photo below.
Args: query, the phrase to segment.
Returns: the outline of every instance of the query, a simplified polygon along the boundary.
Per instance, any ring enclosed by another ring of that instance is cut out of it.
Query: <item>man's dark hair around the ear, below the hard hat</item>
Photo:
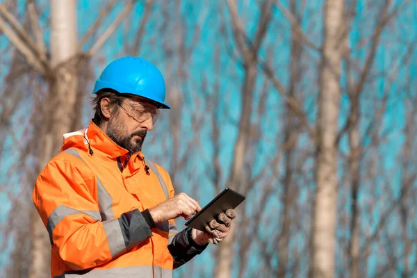
[[[102,90],[96,93],[95,97],[92,99],[92,109],[94,110],[94,117],[92,118],[92,122],[94,122],[97,126],[100,126],[105,120],[103,113],[101,112],[100,102],[101,99],[107,97],[110,99],[110,104],[114,106],[114,109],[111,111],[111,115],[115,115],[117,111],[119,111],[119,106],[114,105],[122,105],[123,100],[126,99],[122,94],[116,92],[115,90]]]

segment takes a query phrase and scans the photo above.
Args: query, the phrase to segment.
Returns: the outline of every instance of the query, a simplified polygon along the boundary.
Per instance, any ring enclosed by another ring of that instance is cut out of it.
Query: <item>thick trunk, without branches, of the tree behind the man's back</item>
[[[60,152],[63,133],[70,131],[76,102],[76,0],[51,0],[51,72],[49,91],[42,107],[38,172]],[[30,278],[50,277],[50,249],[47,230],[38,213],[32,216]]]

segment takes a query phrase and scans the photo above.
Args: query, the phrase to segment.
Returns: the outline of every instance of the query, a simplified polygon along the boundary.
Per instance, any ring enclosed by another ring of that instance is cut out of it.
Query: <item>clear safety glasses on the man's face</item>
[[[152,124],[155,124],[158,121],[160,111],[155,106],[151,104],[125,100],[122,105],[116,104],[119,106],[124,113],[126,113],[129,117],[132,117],[133,120],[139,122],[145,122],[150,117],[152,117]]]

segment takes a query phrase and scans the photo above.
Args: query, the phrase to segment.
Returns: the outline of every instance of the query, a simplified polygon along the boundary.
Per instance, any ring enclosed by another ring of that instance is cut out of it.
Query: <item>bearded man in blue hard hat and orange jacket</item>
[[[124,57],[101,73],[95,116],[87,129],[64,135],[60,154],[33,191],[51,240],[52,277],[171,277],[172,269],[217,244],[233,210],[206,231],[177,233],[174,219],[201,207],[174,188],[167,172],[145,159],[142,142],[165,104],[161,72]]]

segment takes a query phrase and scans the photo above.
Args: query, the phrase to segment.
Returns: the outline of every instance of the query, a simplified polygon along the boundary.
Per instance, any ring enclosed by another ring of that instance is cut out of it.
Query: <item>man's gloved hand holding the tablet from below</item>
[[[205,245],[206,243],[218,244],[227,237],[231,229],[231,220],[236,218],[236,211],[233,209],[227,210],[225,213],[218,215],[218,220],[211,220],[206,226],[206,231],[199,231],[193,229],[193,240],[198,245]]]

